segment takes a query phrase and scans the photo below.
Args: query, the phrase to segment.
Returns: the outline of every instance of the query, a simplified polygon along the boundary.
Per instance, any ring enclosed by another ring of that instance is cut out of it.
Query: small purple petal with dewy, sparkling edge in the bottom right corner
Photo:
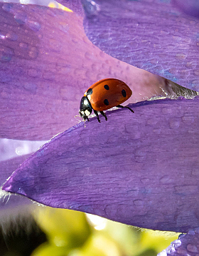
[[[198,256],[199,255],[199,229],[190,230],[188,234],[180,235],[178,240],[160,252],[158,256]]]

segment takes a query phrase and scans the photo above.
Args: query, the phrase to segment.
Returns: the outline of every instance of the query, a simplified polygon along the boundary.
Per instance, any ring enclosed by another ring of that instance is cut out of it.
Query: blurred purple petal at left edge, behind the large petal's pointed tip
[[[30,155],[23,155],[18,158],[12,158],[9,160],[5,160],[0,162],[0,183],[1,185],[5,182],[9,175],[18,168],[18,165],[23,163],[26,158]],[[31,200],[25,197],[21,197],[19,195],[2,195],[0,191],[0,209],[6,210],[8,208],[14,208],[21,205],[31,204]]]

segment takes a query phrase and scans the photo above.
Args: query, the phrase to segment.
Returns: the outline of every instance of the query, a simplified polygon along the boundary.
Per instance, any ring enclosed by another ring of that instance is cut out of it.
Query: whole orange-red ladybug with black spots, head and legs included
[[[97,83],[94,83],[87,89],[80,101],[80,116],[89,121],[88,116],[94,111],[97,120],[100,123],[97,111],[104,116],[107,121],[107,116],[103,111],[109,108],[129,108],[119,104],[127,101],[131,97],[132,91],[126,83],[115,78],[105,78]],[[134,111],[129,108],[131,112]]]

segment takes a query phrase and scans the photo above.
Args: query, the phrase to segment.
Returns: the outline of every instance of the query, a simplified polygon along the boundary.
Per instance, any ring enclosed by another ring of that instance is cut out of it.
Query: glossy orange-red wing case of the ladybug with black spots
[[[131,89],[123,81],[106,78],[90,86],[84,96],[87,96],[95,111],[106,111],[127,101],[131,94]]]

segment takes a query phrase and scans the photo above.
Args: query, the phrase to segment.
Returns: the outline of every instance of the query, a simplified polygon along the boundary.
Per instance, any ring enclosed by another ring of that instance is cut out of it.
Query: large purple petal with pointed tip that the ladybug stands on
[[[146,101],[60,133],[4,190],[155,230],[199,226],[199,99]],[[85,127],[86,125],[86,127]]]

